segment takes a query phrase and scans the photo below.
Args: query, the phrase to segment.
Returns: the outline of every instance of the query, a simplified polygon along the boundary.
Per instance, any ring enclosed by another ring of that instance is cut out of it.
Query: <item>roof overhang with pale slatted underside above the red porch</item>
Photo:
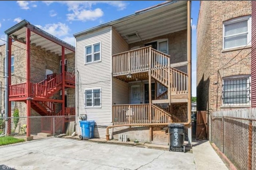
[[[41,46],[45,50],[54,52],[55,54],[62,54],[62,46],[65,48],[65,54],[75,52],[75,47],[60,40],[59,38],[45,32],[44,30],[30,24],[26,20],[22,20],[18,24],[12,26],[5,31],[10,38],[13,40],[26,43],[26,28],[31,31],[30,43],[36,46]]]

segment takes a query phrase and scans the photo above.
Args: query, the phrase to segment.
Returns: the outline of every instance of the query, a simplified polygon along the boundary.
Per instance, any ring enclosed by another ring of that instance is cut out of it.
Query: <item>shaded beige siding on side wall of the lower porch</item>
[[[129,84],[113,78],[112,104],[129,104]]]

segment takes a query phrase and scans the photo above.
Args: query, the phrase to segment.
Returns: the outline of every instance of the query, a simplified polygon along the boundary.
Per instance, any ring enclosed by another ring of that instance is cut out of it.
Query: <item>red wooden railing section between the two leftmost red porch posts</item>
[[[26,96],[26,84],[14,84],[9,86],[9,97],[24,97]]]

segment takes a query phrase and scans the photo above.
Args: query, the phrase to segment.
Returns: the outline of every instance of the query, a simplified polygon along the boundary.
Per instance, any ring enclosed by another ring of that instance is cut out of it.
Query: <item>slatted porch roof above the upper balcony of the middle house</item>
[[[135,12],[130,16],[74,34],[82,34],[113,26],[128,43],[187,29],[187,1],[167,1]]]

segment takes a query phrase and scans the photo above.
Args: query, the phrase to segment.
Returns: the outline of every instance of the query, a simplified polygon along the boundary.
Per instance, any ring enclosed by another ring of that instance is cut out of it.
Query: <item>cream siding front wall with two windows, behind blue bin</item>
[[[84,64],[85,46],[101,42],[101,61]],[[112,125],[111,117],[111,27],[99,29],[76,38],[76,67],[78,91],[77,134],[81,134],[79,115],[86,114],[94,120],[94,137],[106,138],[106,126]],[[101,108],[85,108],[85,89],[101,88]],[[111,131],[110,131],[111,134]]]

